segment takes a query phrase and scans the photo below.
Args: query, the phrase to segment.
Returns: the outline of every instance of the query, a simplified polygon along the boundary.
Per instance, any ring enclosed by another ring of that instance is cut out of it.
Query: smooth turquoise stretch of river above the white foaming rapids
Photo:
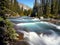
[[[57,29],[56,26],[52,23],[43,22],[40,20],[32,20],[32,19],[9,19],[15,24],[19,25],[19,30],[25,30],[29,32],[36,32],[36,33],[47,33],[50,34],[51,30],[60,33],[60,29]]]

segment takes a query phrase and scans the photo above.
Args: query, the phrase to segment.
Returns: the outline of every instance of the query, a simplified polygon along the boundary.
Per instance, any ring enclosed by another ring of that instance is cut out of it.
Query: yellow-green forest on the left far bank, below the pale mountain
[[[5,3],[6,8],[6,14],[11,16],[24,16],[31,14],[31,9],[29,10],[23,10],[23,6],[20,8],[19,3],[17,0],[7,0],[7,3]]]

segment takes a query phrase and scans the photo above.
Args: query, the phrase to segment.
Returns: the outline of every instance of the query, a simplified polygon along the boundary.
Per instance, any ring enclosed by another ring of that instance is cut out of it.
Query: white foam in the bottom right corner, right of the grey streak
[[[54,31],[52,35],[41,35],[40,38],[46,45],[60,45],[60,36],[58,36]]]

